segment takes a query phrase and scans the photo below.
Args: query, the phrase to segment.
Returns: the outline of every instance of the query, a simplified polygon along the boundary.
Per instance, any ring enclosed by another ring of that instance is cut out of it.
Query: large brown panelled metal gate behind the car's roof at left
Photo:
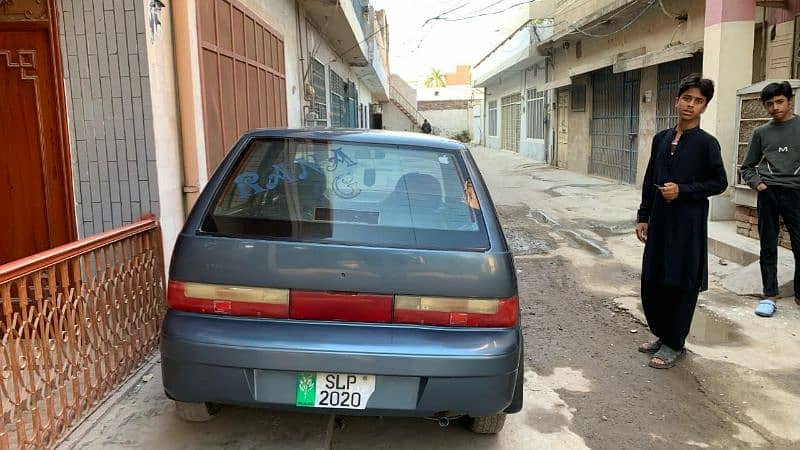
[[[209,174],[245,131],[285,127],[283,38],[237,1],[201,0],[200,34]]]

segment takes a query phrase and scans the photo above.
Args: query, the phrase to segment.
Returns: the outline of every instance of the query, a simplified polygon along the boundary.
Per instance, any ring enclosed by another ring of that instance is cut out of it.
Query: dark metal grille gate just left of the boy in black
[[[636,182],[639,134],[638,70],[592,75],[592,152],[589,173]]]

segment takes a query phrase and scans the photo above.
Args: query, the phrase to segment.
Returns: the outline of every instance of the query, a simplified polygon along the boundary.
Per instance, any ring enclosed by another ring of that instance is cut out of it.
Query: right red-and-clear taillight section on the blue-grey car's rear
[[[517,297],[475,299],[398,295],[394,322],[457,327],[511,327],[517,324]]]

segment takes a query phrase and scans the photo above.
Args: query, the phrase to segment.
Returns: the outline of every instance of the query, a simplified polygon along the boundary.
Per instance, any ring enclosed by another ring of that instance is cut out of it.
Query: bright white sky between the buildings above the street
[[[523,0],[371,0],[375,9],[386,11],[389,22],[389,65],[392,73],[407,81],[424,79],[431,69],[452,72],[457,64],[474,65],[502,42],[528,17],[529,6],[504,13],[460,21],[429,22],[450,9],[464,5],[444,17],[460,18],[500,11]],[[488,9],[486,9],[489,7]]]

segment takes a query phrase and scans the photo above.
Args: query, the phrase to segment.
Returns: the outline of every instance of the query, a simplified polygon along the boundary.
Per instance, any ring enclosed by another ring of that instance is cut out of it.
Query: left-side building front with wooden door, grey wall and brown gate
[[[371,125],[388,28],[367,0],[17,0],[0,71],[0,264],[145,214],[168,257],[244,131]]]

